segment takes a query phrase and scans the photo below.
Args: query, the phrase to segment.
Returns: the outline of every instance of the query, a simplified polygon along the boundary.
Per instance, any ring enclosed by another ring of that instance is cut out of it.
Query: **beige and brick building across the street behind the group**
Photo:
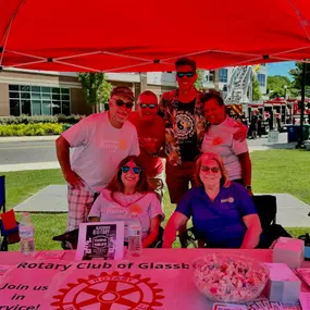
[[[225,92],[233,75],[232,67],[201,71],[201,87]],[[175,72],[107,73],[112,86],[125,85],[137,97],[144,90],[153,91],[159,98],[174,89]],[[266,92],[266,66],[258,72],[261,92]],[[102,104],[101,110],[104,109]],[[29,70],[0,71],[0,116],[21,114],[90,114],[92,107],[86,104],[77,73],[42,72]]]

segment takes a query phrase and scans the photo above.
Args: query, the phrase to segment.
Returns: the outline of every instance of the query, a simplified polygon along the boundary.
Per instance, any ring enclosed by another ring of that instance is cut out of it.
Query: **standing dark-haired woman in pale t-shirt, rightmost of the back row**
[[[251,160],[247,140],[234,139],[240,125],[226,114],[220,95],[206,94],[201,101],[208,122],[201,151],[218,153],[224,160],[230,179],[243,184],[251,194]]]

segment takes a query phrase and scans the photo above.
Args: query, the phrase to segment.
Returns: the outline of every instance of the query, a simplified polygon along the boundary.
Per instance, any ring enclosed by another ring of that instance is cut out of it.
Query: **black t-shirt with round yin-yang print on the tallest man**
[[[194,116],[195,101],[196,99],[188,103],[178,101],[176,126],[182,161],[195,161],[199,153]]]

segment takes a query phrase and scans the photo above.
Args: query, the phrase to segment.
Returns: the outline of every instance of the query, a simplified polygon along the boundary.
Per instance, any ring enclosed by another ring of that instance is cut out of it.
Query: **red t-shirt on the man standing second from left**
[[[144,144],[153,142],[156,145],[156,150],[159,149],[164,144],[164,120],[160,116],[156,116],[152,123],[144,123],[137,111],[132,112],[129,121],[136,126],[139,145],[140,145],[140,156],[146,174],[148,177],[153,177],[163,172],[162,160],[159,157],[153,157],[150,154]]]

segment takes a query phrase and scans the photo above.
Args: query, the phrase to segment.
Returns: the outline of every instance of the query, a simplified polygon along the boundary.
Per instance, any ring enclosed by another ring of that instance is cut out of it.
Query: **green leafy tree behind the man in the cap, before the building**
[[[104,78],[104,73],[82,72],[78,74],[87,104],[94,107],[106,103],[109,99],[112,85]]]

